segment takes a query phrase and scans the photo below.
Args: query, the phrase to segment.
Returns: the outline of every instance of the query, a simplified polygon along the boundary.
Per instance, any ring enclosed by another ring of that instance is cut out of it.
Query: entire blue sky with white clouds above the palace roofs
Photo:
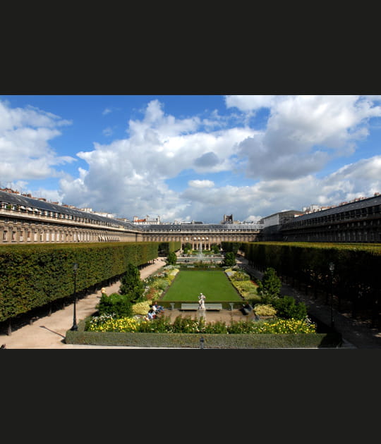
[[[381,192],[381,96],[0,95],[0,187],[130,220]]]

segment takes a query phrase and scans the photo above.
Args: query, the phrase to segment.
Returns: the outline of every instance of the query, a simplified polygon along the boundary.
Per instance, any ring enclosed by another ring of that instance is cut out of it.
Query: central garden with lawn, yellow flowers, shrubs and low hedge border
[[[121,285],[123,291],[102,295],[96,316],[81,321],[78,332],[68,331],[66,341],[197,347],[195,333],[198,333],[215,348],[260,348],[270,344],[272,347],[322,346],[327,335],[317,333],[303,304],[296,303],[292,297],[277,295],[277,276],[272,271],[269,273],[269,276],[265,273],[259,283],[238,266],[191,271],[167,265],[140,282],[135,273],[135,277],[129,276],[129,290],[125,279]],[[128,291],[130,293],[121,294]],[[177,316],[171,321],[166,315],[169,304],[173,307],[174,302],[197,302],[200,292],[205,294],[207,302],[229,302],[236,307],[249,304],[255,319],[206,322],[202,317]],[[145,315],[156,301],[165,307],[164,312],[149,320]]]

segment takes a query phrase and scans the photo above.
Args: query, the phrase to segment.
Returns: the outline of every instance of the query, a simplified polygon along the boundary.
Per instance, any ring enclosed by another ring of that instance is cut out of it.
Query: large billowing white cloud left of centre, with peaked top
[[[88,169],[78,180],[61,180],[65,199],[126,217],[183,214],[188,202],[166,180],[189,168],[195,173],[229,171],[239,142],[255,134],[250,128],[200,132],[199,118],[174,118],[162,107],[150,101],[140,121],[129,121],[128,138],[79,152]],[[193,181],[198,189],[213,185],[212,180]]]

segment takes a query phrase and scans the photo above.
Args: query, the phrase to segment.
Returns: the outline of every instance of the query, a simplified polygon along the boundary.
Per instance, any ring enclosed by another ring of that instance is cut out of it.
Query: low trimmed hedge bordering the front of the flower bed
[[[85,331],[85,319],[78,323],[78,331],[66,331],[66,344],[114,345],[129,347],[192,347],[200,348],[308,348],[338,347],[337,333],[309,334],[205,334],[195,333],[98,333]]]

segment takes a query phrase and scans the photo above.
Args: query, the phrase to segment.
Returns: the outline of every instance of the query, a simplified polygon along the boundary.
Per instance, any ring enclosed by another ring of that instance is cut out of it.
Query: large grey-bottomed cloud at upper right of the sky
[[[246,99],[248,101],[248,99]],[[381,107],[358,96],[289,96],[272,103],[267,128],[239,146],[250,178],[299,178],[349,155]]]

